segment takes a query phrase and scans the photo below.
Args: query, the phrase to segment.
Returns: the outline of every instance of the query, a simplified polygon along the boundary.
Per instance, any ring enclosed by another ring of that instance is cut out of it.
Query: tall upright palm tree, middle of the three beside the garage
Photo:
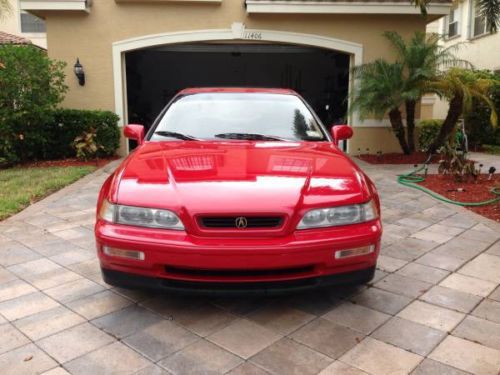
[[[391,42],[398,54],[398,60],[404,65],[406,130],[410,153],[415,151],[415,108],[425,94],[426,82],[438,74],[439,69],[450,66],[467,66],[467,61],[455,57],[454,52],[460,47],[456,44],[444,48],[439,44],[438,34],[416,32],[409,42],[395,31],[388,31],[384,36]]]

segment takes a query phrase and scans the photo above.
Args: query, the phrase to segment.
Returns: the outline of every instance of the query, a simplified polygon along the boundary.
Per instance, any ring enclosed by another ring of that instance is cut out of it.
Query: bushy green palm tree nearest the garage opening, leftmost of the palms
[[[404,66],[383,59],[354,68],[359,87],[354,93],[350,110],[358,110],[360,119],[389,114],[392,130],[405,154],[409,154],[400,107],[408,99],[403,79]]]

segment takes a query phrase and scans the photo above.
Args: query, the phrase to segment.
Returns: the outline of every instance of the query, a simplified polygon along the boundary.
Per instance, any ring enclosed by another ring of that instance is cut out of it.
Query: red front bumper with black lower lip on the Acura
[[[95,233],[104,279],[110,284],[239,292],[367,281],[373,276],[382,228],[377,220],[273,238],[196,237],[98,221]],[[375,245],[375,251],[335,259],[338,250],[367,245]],[[103,246],[141,251],[145,259],[108,256]]]

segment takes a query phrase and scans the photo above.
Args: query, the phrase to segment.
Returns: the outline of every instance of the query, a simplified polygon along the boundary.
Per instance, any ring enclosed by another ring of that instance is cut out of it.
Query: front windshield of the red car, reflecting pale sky
[[[303,101],[274,93],[197,93],[180,96],[149,140],[327,141]]]

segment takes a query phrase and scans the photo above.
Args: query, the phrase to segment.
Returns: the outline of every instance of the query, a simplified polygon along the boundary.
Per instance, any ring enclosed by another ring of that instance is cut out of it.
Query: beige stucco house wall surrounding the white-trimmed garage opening
[[[303,15],[246,13],[243,1],[221,4],[120,3],[96,0],[89,14],[78,12],[42,13],[47,20],[49,55],[64,60],[70,90],[64,106],[114,110],[112,43],[150,34],[175,31],[229,29],[233,22],[248,28],[317,34],[363,45],[364,62],[392,58],[382,36],[397,30],[410,36],[425,29],[419,15]],[[79,57],[87,83],[78,86],[72,72]],[[356,124],[353,124],[356,126]],[[386,128],[358,128],[351,151],[358,148],[397,151],[394,137]]]

